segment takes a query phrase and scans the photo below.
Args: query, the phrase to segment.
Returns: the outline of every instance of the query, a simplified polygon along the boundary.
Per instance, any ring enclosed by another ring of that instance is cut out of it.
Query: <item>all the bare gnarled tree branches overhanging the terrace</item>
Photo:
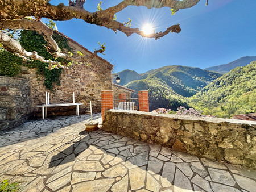
[[[96,12],[89,12],[86,10],[86,0],[68,0],[69,5],[65,6],[60,3],[55,6],[52,5],[50,0],[0,0],[0,43],[7,51],[22,57],[24,60],[39,60],[48,63],[50,68],[52,65],[64,68],[58,61],[44,59],[35,51],[27,51],[18,41],[13,37],[7,35],[2,30],[33,30],[43,35],[44,40],[47,42],[47,51],[53,57],[63,57],[67,60],[86,60],[79,55],[72,57],[67,53],[61,53],[56,41],[52,38],[53,30],[40,21],[41,18],[48,18],[52,20],[71,20],[73,18],[82,19],[87,23],[104,26],[114,32],[122,31],[127,36],[131,34],[138,34],[142,37],[159,39],[170,32],[180,32],[179,24],[167,27],[166,31],[154,32],[152,34],[144,34],[139,28],[132,28],[128,23],[118,22],[115,14],[122,11],[127,6],[146,6],[148,9],[153,7],[170,7],[172,13],[180,9],[187,9],[195,6],[200,0],[123,0],[118,5],[109,7],[106,10],[101,9],[99,3]],[[27,17],[34,16],[35,19],[27,19]],[[94,51],[97,52],[103,51]]]

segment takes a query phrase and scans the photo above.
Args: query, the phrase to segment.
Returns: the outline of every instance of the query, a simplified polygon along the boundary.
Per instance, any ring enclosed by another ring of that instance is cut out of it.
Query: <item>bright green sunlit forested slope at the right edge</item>
[[[222,118],[256,111],[256,61],[217,78],[189,98],[194,108]]]

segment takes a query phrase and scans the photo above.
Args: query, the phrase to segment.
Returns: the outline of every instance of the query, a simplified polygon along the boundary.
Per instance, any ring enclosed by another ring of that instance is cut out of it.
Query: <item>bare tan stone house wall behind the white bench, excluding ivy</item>
[[[46,89],[44,77],[36,74],[36,69],[23,68],[20,76],[31,82],[32,113],[35,116],[42,116],[42,105],[46,101],[46,91],[49,92],[50,103],[72,103],[73,91],[75,102],[84,103],[80,105],[80,114],[89,109],[92,100],[93,112],[101,110],[101,91],[112,90],[111,70],[113,65],[99,56],[82,47],[72,39],[68,38],[69,46],[74,52],[81,51],[86,57],[90,57],[90,66],[73,65],[71,69],[63,69],[61,74],[61,85],[55,86],[53,91]],[[93,56],[93,57],[92,57]],[[75,115],[76,106],[48,107],[47,116]]]

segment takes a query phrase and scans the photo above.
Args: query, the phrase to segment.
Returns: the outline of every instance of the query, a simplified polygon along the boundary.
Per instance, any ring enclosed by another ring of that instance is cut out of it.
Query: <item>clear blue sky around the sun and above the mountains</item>
[[[52,0],[53,5],[61,1]],[[85,9],[94,12],[100,0],[87,0]],[[117,5],[121,0],[102,0],[102,9]],[[155,31],[180,23],[181,32],[161,39],[147,39],[133,34],[126,37],[108,30],[72,19],[56,22],[60,32],[71,37],[93,52],[97,42],[106,43],[106,55],[98,56],[115,65],[114,72],[130,69],[144,73],[167,65],[185,65],[201,69],[221,65],[243,56],[256,56],[256,1],[255,0],[201,0],[190,9],[171,15],[169,7],[147,9],[129,6],[118,12],[117,20],[132,27],[142,28],[152,23]],[[64,2],[66,5],[68,1]]]

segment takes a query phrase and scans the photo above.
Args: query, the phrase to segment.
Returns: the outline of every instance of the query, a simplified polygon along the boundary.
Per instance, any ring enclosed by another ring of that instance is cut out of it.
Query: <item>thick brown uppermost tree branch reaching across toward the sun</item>
[[[131,27],[123,26],[123,23],[120,23],[116,20],[113,20],[115,13],[125,9],[129,5],[134,6],[146,6],[148,9],[153,7],[171,7],[172,9],[178,11],[179,9],[185,9],[196,5],[200,0],[124,0],[116,6],[110,7],[106,10],[89,12],[86,11],[82,5],[84,5],[85,0],[76,0],[73,2],[73,6],[64,6],[60,3],[58,6],[51,5],[44,0],[9,0],[8,5],[12,5],[13,9],[7,5],[5,0],[0,0],[0,20],[3,19],[20,19],[24,16],[35,16],[35,17],[45,17],[52,20],[70,20],[72,18],[83,19],[87,23],[96,24],[98,26],[104,26],[106,28],[112,29],[114,31],[122,31],[127,36],[136,33],[141,36],[145,36],[142,31],[134,29]],[[26,5],[26,7],[24,7]],[[36,5],[36,6],[35,6]],[[11,11],[10,11],[11,10]],[[175,27],[175,26],[174,26]],[[176,31],[178,32],[178,30]],[[161,34],[161,35],[159,35]],[[164,34],[159,32],[155,35],[147,36],[149,38],[158,39],[163,37]],[[156,38],[157,37],[157,38]]]

